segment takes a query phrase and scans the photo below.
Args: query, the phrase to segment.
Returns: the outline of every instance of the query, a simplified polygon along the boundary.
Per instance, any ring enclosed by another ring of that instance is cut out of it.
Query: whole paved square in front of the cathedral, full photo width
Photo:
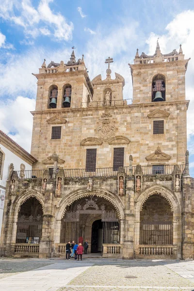
[[[0,259],[0,269],[2,291],[194,291],[194,261]]]

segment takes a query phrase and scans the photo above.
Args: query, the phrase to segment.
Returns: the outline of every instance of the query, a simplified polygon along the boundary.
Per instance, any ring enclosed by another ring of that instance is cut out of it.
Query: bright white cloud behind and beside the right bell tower
[[[162,53],[168,53],[173,49],[179,50],[179,44],[182,45],[185,59],[194,55],[194,10],[187,10],[178,14],[167,26],[163,35],[156,35],[151,32],[147,44],[149,52],[153,54],[156,49],[156,41],[159,38],[159,44]],[[194,59],[191,58],[186,72],[186,99],[191,100],[187,113],[188,136],[194,135]]]

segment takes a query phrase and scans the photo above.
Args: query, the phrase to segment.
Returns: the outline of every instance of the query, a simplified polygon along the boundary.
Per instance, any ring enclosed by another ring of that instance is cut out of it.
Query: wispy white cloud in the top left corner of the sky
[[[50,9],[49,3],[52,1],[39,0],[38,8],[35,9],[31,0],[22,0],[21,3],[17,0],[4,0],[0,5],[0,17],[23,27],[24,33],[32,38],[44,34],[52,35],[58,41],[71,40],[73,23],[67,23],[61,13],[54,13]],[[49,26],[49,29],[40,28],[40,23]]]

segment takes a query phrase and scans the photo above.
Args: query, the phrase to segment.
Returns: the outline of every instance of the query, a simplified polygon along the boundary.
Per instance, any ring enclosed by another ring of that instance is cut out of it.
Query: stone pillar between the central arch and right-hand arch
[[[126,181],[123,259],[134,258],[134,177]]]

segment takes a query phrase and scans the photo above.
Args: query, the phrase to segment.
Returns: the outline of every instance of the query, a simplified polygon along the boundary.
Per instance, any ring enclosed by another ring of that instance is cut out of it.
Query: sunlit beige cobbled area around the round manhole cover
[[[109,261],[108,264],[105,262],[95,264],[90,267],[87,271],[76,277],[76,279],[72,280],[69,285],[85,285],[86,286],[94,286],[94,288],[87,288],[86,290],[119,290],[116,286],[132,286],[134,287],[144,287],[146,286],[152,287],[152,291],[154,287],[162,287],[165,289],[166,287],[184,287],[190,288],[190,290],[194,289],[194,283],[185,279],[184,277],[177,275],[175,272],[168,268],[168,263],[164,262],[151,262],[151,261],[127,261],[122,263]],[[170,262],[169,262],[170,266]],[[126,278],[126,276],[134,276],[136,278]],[[115,286],[110,289],[104,289],[103,287],[95,288],[95,286]],[[115,289],[116,288],[116,289]],[[158,290],[157,288],[157,290]],[[66,287],[66,291],[73,290],[83,290],[83,288],[70,286]],[[124,290],[124,289],[120,289]],[[126,290],[126,289],[125,289]],[[131,290],[131,289],[130,289]],[[134,289],[135,290],[135,289]],[[149,289],[148,289],[149,290]],[[176,290],[176,289],[175,289]],[[179,289],[180,290],[180,289]]]

